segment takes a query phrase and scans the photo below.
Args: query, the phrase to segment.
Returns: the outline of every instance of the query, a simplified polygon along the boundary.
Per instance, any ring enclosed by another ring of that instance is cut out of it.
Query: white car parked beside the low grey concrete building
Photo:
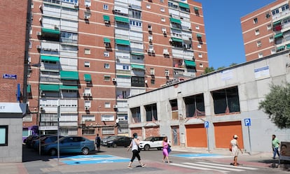
[[[152,148],[157,148],[157,150],[162,150],[162,141],[163,136],[151,136],[146,138],[145,140],[140,141],[140,149],[141,150],[150,150]]]

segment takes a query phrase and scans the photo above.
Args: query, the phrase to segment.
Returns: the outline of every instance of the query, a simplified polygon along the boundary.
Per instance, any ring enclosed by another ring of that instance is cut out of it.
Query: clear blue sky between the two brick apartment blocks
[[[246,61],[240,18],[275,0],[195,0],[202,3],[209,67]]]

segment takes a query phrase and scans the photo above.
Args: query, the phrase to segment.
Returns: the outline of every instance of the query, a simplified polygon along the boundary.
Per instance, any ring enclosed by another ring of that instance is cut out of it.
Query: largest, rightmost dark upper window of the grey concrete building
[[[214,114],[240,112],[240,101],[237,87],[212,92]]]

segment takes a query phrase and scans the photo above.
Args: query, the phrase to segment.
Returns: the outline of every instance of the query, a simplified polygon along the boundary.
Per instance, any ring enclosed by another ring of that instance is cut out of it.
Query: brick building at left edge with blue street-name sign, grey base
[[[0,162],[22,162],[22,117],[27,108],[27,1],[1,1]],[[7,9],[9,10],[9,13]]]

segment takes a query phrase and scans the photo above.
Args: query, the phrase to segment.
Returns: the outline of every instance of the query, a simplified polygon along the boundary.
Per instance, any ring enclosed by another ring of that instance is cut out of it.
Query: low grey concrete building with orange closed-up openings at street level
[[[233,135],[246,152],[271,152],[272,134],[290,140],[258,109],[270,84],[290,82],[289,51],[177,82],[128,99],[130,132],[168,136],[172,145],[227,149]],[[247,72],[247,75],[244,75]]]

